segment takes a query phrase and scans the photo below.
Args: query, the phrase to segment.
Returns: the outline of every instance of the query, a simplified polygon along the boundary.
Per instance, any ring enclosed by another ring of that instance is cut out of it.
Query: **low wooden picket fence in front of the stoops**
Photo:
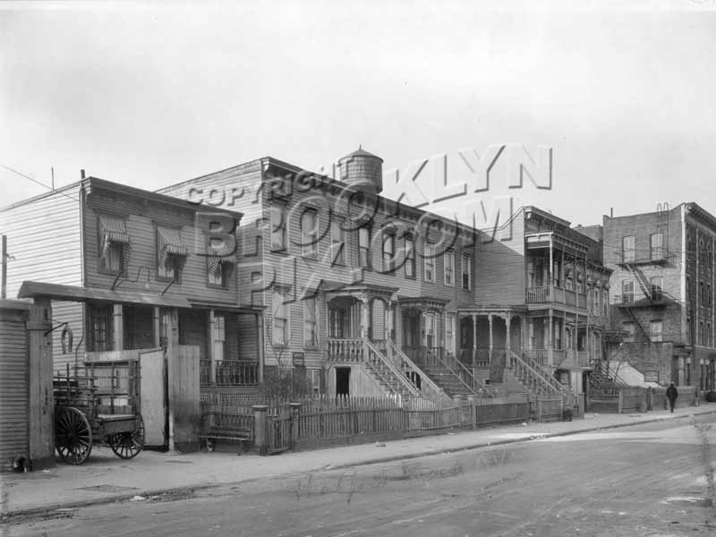
[[[263,455],[562,417],[560,398],[538,399],[536,416],[524,397],[463,399],[448,405],[395,396],[315,396],[291,403],[267,403],[249,407],[227,404],[220,396],[205,400],[202,438],[214,446],[232,439],[250,440]]]

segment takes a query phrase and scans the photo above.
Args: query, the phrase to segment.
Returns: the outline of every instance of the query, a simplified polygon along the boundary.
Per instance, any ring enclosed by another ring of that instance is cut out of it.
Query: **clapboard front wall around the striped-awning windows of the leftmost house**
[[[199,208],[197,208],[198,210]],[[149,268],[149,289],[159,293],[168,286],[166,279],[158,277],[158,241],[157,226],[170,226],[180,230],[183,245],[189,250],[183,266],[181,281],[175,282],[166,291],[166,296],[183,296],[198,298],[202,301],[236,302],[236,277],[229,278],[226,289],[208,285],[208,262],[204,253],[203,243],[196,245],[195,236],[203,236],[203,231],[196,227],[196,211],[176,208],[171,204],[156,201],[143,203],[141,200],[128,196],[116,197],[105,192],[93,192],[90,207],[85,210],[85,252],[87,256],[87,286],[110,288],[115,275],[99,271],[99,226],[100,214],[113,214],[123,217],[127,234],[130,235],[132,253],[126,269],[125,277],[119,284],[124,290],[147,291],[147,270]],[[229,213],[226,213],[229,214]],[[235,215],[238,219],[240,216]],[[234,257],[234,261],[235,261]],[[140,268],[145,267],[141,270]],[[129,280],[139,279],[136,282]]]

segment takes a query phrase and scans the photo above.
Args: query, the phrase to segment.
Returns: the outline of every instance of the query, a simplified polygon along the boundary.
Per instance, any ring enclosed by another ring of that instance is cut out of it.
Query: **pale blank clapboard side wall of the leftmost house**
[[[80,286],[80,188],[73,184],[0,211],[7,235],[7,296],[17,296],[24,280]]]

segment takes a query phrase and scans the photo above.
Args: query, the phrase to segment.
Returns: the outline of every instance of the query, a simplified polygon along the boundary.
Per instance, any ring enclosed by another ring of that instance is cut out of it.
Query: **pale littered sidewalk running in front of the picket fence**
[[[290,473],[388,462],[704,413],[716,413],[716,404],[678,408],[674,413],[663,410],[634,414],[589,413],[574,422],[530,423],[393,440],[385,447],[361,444],[286,452],[278,456],[217,452],[175,455],[145,451],[131,460],[123,460],[108,447],[93,447],[90,458],[81,466],[60,463],[46,471],[0,475],[2,515],[29,515],[132,499],[135,495],[146,498],[173,490],[206,489]]]

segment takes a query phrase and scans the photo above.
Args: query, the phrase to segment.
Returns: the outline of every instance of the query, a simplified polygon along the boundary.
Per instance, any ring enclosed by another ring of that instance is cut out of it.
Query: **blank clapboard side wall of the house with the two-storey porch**
[[[475,262],[478,304],[524,304],[524,209],[513,217],[511,232],[506,230],[479,244]]]

